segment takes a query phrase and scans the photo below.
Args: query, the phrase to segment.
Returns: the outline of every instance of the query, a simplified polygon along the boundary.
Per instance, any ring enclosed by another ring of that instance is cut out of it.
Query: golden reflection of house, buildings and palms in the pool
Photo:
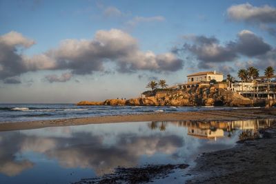
[[[170,124],[177,127],[188,127],[188,135],[204,139],[217,139],[219,137],[230,137],[233,132],[240,130],[240,134],[257,134],[259,128],[270,127],[275,123],[275,119],[253,119],[242,121],[170,121]],[[166,130],[167,122],[152,121],[148,127],[152,130]]]

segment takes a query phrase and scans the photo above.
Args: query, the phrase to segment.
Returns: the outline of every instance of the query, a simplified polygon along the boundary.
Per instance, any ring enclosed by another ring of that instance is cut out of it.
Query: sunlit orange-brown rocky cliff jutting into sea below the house
[[[103,102],[80,101],[77,105],[154,105],[154,106],[262,106],[264,101],[253,102],[244,96],[215,88],[190,88],[186,90],[153,90],[143,93],[145,97],[136,99],[107,99]]]

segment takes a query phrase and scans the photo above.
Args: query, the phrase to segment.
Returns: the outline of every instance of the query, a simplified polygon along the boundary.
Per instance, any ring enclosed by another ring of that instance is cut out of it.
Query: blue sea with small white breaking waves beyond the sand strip
[[[149,112],[188,112],[199,110],[229,110],[230,107],[174,107],[174,106],[78,106],[75,104],[1,103],[0,123],[70,119],[118,114],[141,114]]]

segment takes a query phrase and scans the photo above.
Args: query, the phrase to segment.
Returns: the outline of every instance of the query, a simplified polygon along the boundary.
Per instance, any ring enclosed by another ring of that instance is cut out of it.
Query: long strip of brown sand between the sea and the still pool
[[[204,110],[197,112],[155,112],[115,116],[95,116],[75,119],[25,121],[0,123],[0,132],[30,130],[42,127],[88,125],[97,123],[121,123],[140,121],[235,121],[246,119],[276,118],[275,108],[246,108],[237,110]]]

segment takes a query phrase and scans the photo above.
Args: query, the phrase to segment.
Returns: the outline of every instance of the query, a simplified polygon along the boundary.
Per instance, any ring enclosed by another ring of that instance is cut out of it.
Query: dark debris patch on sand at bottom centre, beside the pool
[[[84,183],[148,183],[153,179],[164,178],[172,173],[172,170],[184,170],[187,164],[146,165],[144,167],[117,167],[112,174],[101,177],[83,178],[75,184]]]

